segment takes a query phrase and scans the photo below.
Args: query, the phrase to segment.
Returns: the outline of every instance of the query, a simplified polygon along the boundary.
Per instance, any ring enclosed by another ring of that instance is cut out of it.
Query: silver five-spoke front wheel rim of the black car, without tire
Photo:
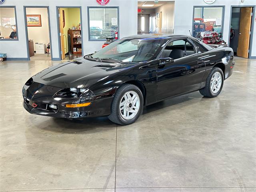
[[[122,118],[129,120],[134,118],[140,109],[140,97],[134,91],[128,91],[122,97],[119,111]]]

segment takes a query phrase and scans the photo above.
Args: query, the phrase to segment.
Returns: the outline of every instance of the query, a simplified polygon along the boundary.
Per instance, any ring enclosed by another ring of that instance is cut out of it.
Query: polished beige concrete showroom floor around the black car
[[[256,60],[235,62],[218,97],[166,100],[129,126],[29,114],[23,84],[58,62],[0,63],[0,191],[255,192]]]

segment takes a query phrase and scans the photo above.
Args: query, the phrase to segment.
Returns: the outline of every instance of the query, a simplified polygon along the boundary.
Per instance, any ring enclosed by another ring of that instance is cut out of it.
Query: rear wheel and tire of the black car
[[[224,75],[220,68],[212,68],[206,79],[206,85],[199,92],[206,97],[216,97],[220,94],[224,83]]]

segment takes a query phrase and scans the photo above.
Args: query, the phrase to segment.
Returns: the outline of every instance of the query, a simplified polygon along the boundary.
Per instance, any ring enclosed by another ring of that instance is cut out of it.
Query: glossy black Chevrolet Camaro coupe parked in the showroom
[[[216,97],[232,74],[233,50],[191,36],[150,34],[122,38],[100,51],[51,66],[24,85],[24,108],[60,118],[108,116],[134,123],[147,106],[200,91]]]

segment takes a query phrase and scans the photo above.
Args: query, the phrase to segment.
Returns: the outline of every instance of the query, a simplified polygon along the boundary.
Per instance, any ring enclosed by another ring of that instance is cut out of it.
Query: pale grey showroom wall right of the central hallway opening
[[[192,30],[192,18],[193,18],[193,6],[225,6],[224,13],[224,28],[223,39],[228,42],[230,33],[230,11],[231,5],[233,6],[254,6],[256,0],[245,0],[244,3],[241,0],[217,0],[213,4],[206,4],[203,0],[176,0],[174,11],[174,33],[190,35],[188,30]],[[184,6],[186,5],[186,6]],[[254,22],[254,35],[252,40],[252,57],[256,57],[256,21],[255,15],[253,16]]]

